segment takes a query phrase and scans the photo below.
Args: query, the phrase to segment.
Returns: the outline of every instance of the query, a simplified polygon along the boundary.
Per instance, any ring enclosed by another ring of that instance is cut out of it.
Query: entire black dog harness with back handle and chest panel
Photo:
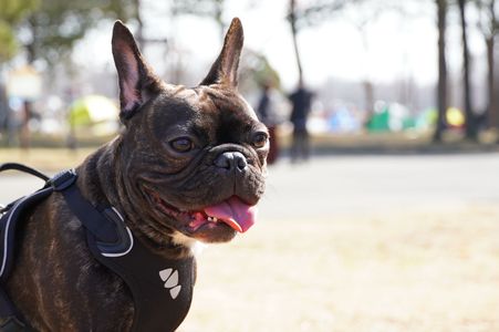
[[[194,257],[166,259],[152,252],[135,238],[114,207],[94,207],[75,185],[77,175],[62,172],[52,178],[20,164],[0,164],[0,172],[18,169],[35,175],[45,185],[0,209],[0,331],[29,331],[4,284],[14,263],[15,229],[23,212],[59,191],[71,211],[86,229],[92,255],[118,274],[128,286],[134,299],[132,331],[175,331],[190,307],[195,281]]]

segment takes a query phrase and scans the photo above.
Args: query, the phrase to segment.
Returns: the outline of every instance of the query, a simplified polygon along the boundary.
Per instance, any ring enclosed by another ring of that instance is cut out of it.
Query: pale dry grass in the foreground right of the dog
[[[198,262],[180,331],[499,331],[499,206],[264,220]]]

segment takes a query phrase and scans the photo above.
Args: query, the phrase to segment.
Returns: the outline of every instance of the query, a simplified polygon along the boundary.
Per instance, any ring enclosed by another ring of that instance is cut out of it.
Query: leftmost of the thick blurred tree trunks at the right
[[[437,27],[438,27],[438,113],[437,125],[433,137],[434,142],[441,142],[441,136],[446,126],[445,114],[447,111],[447,59],[446,59],[446,19],[447,0],[436,0],[437,4]]]

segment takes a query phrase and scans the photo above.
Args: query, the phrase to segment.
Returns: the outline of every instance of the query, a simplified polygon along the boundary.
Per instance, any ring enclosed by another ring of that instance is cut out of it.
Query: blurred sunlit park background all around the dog
[[[199,257],[181,331],[499,331],[495,0],[0,0],[0,163],[119,131],[114,20],[197,85],[233,17],[271,132],[260,220]],[[40,187],[0,178],[0,203]]]

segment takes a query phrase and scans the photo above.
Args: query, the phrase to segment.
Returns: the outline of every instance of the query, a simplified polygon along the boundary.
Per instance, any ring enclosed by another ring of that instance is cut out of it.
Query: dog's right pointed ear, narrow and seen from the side
[[[237,89],[239,58],[241,55],[243,40],[245,34],[241,21],[235,18],[226,34],[220,54],[200,85],[222,84]]]

